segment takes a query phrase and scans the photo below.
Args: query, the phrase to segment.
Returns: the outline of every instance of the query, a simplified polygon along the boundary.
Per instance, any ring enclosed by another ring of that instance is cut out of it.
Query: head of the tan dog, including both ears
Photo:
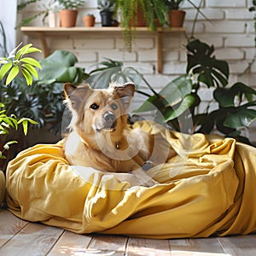
[[[134,95],[134,84],[110,84],[108,89],[92,89],[89,84],[64,84],[73,128],[79,133],[121,133],[127,125],[126,113]]]

